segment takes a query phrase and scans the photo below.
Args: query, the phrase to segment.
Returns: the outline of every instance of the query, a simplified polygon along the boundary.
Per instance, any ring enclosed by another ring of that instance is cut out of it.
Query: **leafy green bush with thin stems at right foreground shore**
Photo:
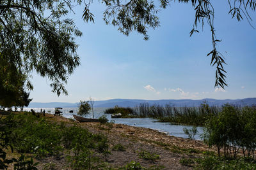
[[[218,115],[209,118],[205,124],[204,141],[209,146],[223,149],[225,157],[237,157],[242,148],[244,157],[254,157],[256,141],[256,109],[253,107],[237,108],[226,104]]]

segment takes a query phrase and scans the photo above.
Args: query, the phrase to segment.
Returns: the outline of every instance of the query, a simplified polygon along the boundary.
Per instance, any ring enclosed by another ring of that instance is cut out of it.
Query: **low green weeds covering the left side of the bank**
[[[11,145],[19,153],[31,153],[35,157],[44,158],[51,155],[60,157],[63,150],[70,150],[72,152],[67,159],[71,161],[70,166],[78,169],[93,167],[94,163],[97,166],[99,158],[93,155],[94,153],[105,157],[109,154],[108,139],[105,136],[92,134],[75,125],[67,127],[65,124],[48,122],[44,118],[36,118],[31,113],[11,114],[1,119],[0,123],[1,147]],[[6,162],[5,158],[0,160],[1,166],[8,166],[10,162]],[[13,161],[16,162],[17,168],[36,166],[33,160],[25,159],[24,156]],[[72,163],[74,161],[76,164]]]

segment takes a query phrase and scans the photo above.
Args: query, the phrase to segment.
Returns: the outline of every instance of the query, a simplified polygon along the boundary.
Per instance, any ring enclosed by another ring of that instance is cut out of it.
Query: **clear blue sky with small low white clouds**
[[[68,96],[51,92],[51,81],[33,74],[32,102],[76,103],[92,97],[107,99],[243,99],[256,97],[256,29],[246,20],[228,15],[226,1],[213,2],[218,50],[227,66],[225,89],[214,88],[215,67],[210,66],[211,32],[207,24],[189,37],[195,20],[191,4],[171,2],[159,15],[160,27],[149,29],[150,39],[120,33],[102,20],[104,6],[93,2],[95,23],[82,19],[83,8],[70,14],[80,31],[76,38],[81,65],[68,78]],[[256,13],[250,13],[256,27]]]

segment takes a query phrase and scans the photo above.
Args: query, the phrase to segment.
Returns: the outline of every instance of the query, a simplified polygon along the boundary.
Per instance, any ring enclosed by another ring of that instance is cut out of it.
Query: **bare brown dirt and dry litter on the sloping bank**
[[[111,167],[122,167],[133,160],[140,162],[141,166],[146,168],[193,169],[189,166],[182,166],[180,159],[184,157],[200,157],[201,152],[205,150],[213,151],[212,148],[204,145],[202,141],[177,138],[152,129],[123,124],[113,124],[111,128],[106,125],[99,127],[99,123],[79,123],[68,118],[54,117],[49,114],[45,114],[45,117],[53,122],[66,122],[67,125],[78,124],[90,132],[106,135],[109,140],[109,150],[111,152],[111,155],[108,155],[106,160]],[[112,150],[116,144],[125,146],[125,151]],[[139,157],[141,150],[156,153],[160,156],[160,159],[154,162],[144,160]],[[66,166],[65,155],[62,155],[58,159],[49,157],[43,160],[36,160],[36,162],[40,162],[38,169],[46,169],[45,167],[49,167],[51,164],[54,164],[55,169],[70,169]]]

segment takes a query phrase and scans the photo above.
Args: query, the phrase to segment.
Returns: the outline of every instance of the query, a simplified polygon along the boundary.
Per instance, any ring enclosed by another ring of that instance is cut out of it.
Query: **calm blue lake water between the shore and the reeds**
[[[104,115],[104,111],[106,109],[107,108],[94,108],[94,117],[101,117],[102,115]],[[24,110],[30,111],[31,108],[24,108]],[[41,108],[33,108],[33,110],[40,112]],[[45,113],[54,114],[54,108],[42,108],[42,110],[45,110]],[[69,113],[70,110],[73,110],[74,113]],[[73,118],[72,115],[77,115],[78,108],[63,108],[61,111],[63,112],[63,117]],[[92,118],[92,114],[88,115],[87,117]],[[106,117],[109,121],[114,120],[116,124],[125,124],[136,127],[156,129],[157,131],[168,132],[168,134],[172,136],[181,138],[188,138],[188,136],[183,132],[184,127],[188,129],[191,129],[193,127],[189,125],[173,125],[170,123],[156,122],[157,120],[154,118],[111,118],[111,115],[109,114],[107,114]],[[197,129],[199,134],[202,134],[203,128],[198,127]],[[200,139],[199,134],[195,136],[195,139]]]

